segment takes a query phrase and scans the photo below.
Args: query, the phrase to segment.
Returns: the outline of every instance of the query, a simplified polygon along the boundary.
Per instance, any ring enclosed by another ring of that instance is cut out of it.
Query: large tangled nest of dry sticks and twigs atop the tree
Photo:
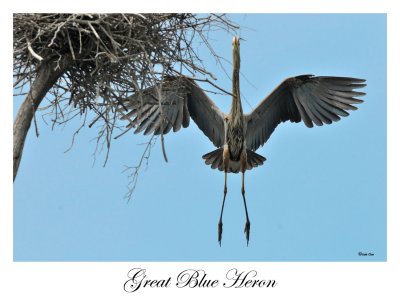
[[[168,75],[213,78],[193,42],[216,29],[237,28],[215,14],[14,14],[13,21],[14,89],[28,91],[26,101],[32,102],[35,85],[44,87],[33,98],[34,110],[18,113],[15,124],[24,121],[27,132],[46,96],[50,104],[44,114],[53,125],[76,116],[85,121],[88,116],[90,126],[101,122],[97,141],[107,148],[106,160],[114,130],[124,130],[116,118],[123,100]],[[41,77],[43,70],[51,79]],[[14,139],[22,130],[15,124]],[[23,142],[16,145],[14,140],[15,148],[21,148],[20,160]],[[14,175],[18,164],[14,162]]]

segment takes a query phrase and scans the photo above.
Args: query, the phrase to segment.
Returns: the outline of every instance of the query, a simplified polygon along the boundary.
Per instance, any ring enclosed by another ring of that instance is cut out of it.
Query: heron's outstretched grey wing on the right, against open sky
[[[307,127],[313,127],[348,116],[348,110],[357,109],[352,104],[363,102],[355,97],[365,93],[354,89],[365,87],[364,82],[358,78],[313,75],[286,79],[245,115],[247,147],[254,151],[264,145],[278,124],[287,120],[303,120]]]

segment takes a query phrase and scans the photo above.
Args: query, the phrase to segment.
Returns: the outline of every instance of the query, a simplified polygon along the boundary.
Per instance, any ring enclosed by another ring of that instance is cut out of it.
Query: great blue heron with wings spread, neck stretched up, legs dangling
[[[250,237],[250,220],[246,205],[244,174],[266,160],[255,153],[267,142],[281,122],[290,120],[307,127],[330,124],[356,110],[352,104],[363,101],[355,97],[365,95],[354,91],[365,86],[363,79],[350,77],[300,75],[284,80],[250,113],[243,114],[239,89],[240,43],[234,37],[232,105],[229,114],[222,113],[194,80],[179,76],[169,77],[160,87],[151,87],[127,99],[130,110],[123,118],[130,120],[135,133],[167,134],[189,126],[190,117],[217,147],[203,156],[211,168],[224,172],[224,196],[218,223],[218,242],[221,245],[222,215],[227,194],[227,173],[242,173],[242,197],[246,212],[245,235]]]

